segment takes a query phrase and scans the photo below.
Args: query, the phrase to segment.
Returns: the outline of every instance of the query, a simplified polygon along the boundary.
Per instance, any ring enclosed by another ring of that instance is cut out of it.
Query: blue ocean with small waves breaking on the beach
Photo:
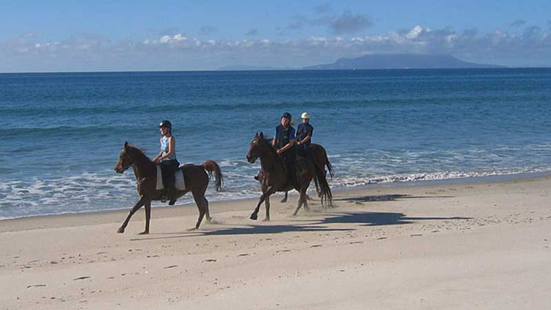
[[[551,172],[551,69],[0,74],[0,219],[129,209],[114,164],[164,119],[180,163],[220,165],[209,200],[258,197],[251,138],[304,111],[333,189]]]

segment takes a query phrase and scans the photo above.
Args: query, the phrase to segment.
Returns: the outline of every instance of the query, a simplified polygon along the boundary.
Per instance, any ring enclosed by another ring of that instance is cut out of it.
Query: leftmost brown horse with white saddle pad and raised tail
[[[121,155],[118,156],[118,161],[114,167],[115,171],[119,174],[125,172],[130,166],[134,169],[134,175],[138,181],[138,194],[140,194],[140,200],[132,207],[130,214],[128,214],[123,225],[117,232],[125,232],[125,228],[128,225],[130,218],[138,209],[145,206],[145,231],[141,234],[149,234],[149,219],[151,218],[151,202],[152,200],[161,200],[164,192],[156,189],[157,169],[156,164],[151,161],[140,149],[133,147],[129,143],[125,142],[125,146],[121,151]],[[184,172],[185,190],[176,191],[173,198],[180,198],[187,192],[191,192],[194,196],[195,203],[199,209],[199,218],[194,229],[198,229],[201,224],[203,216],[207,216],[207,220],[211,221],[209,214],[209,201],[205,198],[205,191],[207,185],[209,185],[209,176],[215,176],[215,189],[220,191],[222,189],[222,173],[220,167],[214,161],[205,161],[202,165],[183,165],[180,167]],[[207,171],[207,172],[205,172]],[[192,228],[193,229],[193,228]]]

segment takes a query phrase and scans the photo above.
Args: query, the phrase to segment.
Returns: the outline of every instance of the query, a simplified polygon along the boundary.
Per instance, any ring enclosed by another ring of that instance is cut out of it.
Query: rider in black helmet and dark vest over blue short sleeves
[[[285,112],[281,116],[281,124],[275,127],[272,141],[276,152],[280,154],[287,169],[287,180],[295,184],[295,129],[291,126],[291,114]]]

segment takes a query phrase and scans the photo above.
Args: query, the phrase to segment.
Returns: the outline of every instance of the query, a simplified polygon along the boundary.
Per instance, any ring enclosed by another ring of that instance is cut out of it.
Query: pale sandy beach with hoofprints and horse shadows
[[[0,221],[0,309],[550,309],[551,178]],[[133,202],[127,202],[130,207]],[[262,208],[259,218],[264,218]]]

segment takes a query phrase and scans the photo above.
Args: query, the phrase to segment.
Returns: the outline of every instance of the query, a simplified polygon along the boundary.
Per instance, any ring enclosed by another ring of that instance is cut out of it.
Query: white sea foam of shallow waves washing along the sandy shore
[[[351,158],[343,158],[343,165]],[[383,172],[384,169],[379,169]],[[207,198],[210,201],[258,198],[260,185],[252,177],[257,169],[249,165],[243,169],[226,174],[226,187],[215,192],[210,187]],[[501,176],[510,174],[528,174],[551,172],[551,167],[495,169],[484,171],[445,171],[407,174],[366,174],[368,170],[349,169],[344,175],[338,174],[330,179],[333,188],[357,187],[378,183],[417,182],[429,180],[448,180],[476,178],[481,176]],[[356,172],[356,173],[353,173]],[[311,187],[310,192],[313,192]],[[127,209],[138,199],[136,183],[132,174],[92,174],[68,176],[51,180],[34,178],[30,182],[14,180],[0,185],[0,218],[19,218],[46,214],[79,213],[112,209]],[[180,198],[178,203],[194,203],[189,194]],[[154,206],[164,205],[154,202]]]

